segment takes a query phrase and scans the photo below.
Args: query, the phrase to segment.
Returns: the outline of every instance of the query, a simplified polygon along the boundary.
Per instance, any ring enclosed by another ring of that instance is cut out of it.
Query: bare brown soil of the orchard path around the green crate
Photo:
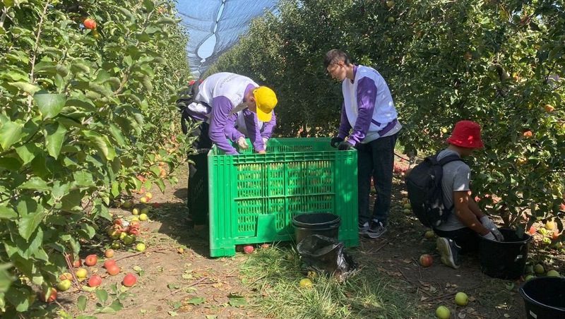
[[[407,165],[406,162],[397,164]],[[189,227],[186,171],[179,173],[176,186],[167,185],[165,194],[156,188],[152,192],[154,198],[150,203],[157,207],[150,212],[150,220],[142,222],[138,236],[147,250],[144,253],[132,249],[118,251],[114,259],[122,271],[114,277],[106,274],[103,261],[87,267],[90,273],[102,275],[102,287],[120,282],[126,272],[136,273],[133,267],[140,267],[141,270],[136,269],[143,272],[138,276],[138,283],[128,289],[129,296],[122,300],[124,308],[117,314],[95,314],[97,318],[115,318],[116,315],[122,318],[263,318],[257,307],[237,305],[241,300],[237,297],[248,297],[249,301],[254,294],[242,284],[239,274],[239,265],[246,260],[246,255],[209,258],[206,227]],[[477,255],[463,256],[458,270],[442,265],[435,239],[424,239],[428,229],[403,212],[400,200],[404,195],[402,176],[396,174],[388,230],[381,239],[362,239],[359,248],[348,249],[357,263],[361,267],[377,267],[380,272],[404,282],[402,289],[421,308],[420,318],[432,318],[434,309],[440,305],[451,308],[452,318],[524,318],[523,300],[518,294],[521,281],[494,279],[482,274]],[[112,209],[114,215],[124,217],[131,217],[130,211]],[[535,245],[538,241],[540,239],[535,240]],[[98,255],[103,255],[102,250],[98,249]],[[431,267],[422,267],[417,262],[424,253],[433,256]],[[540,251],[530,255],[541,259],[551,253]],[[563,255],[554,258],[552,263],[553,268],[564,272]],[[458,291],[468,294],[468,306],[455,306],[453,296]],[[76,308],[76,299],[81,294],[89,300],[85,312]],[[112,301],[112,295],[108,300],[107,303]],[[94,315],[97,308],[94,292],[81,292],[76,288],[59,294],[58,301],[75,315]]]

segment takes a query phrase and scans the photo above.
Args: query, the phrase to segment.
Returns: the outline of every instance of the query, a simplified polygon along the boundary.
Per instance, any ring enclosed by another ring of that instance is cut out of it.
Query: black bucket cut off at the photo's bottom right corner
[[[526,318],[565,318],[565,278],[537,277],[518,289],[524,299]]]

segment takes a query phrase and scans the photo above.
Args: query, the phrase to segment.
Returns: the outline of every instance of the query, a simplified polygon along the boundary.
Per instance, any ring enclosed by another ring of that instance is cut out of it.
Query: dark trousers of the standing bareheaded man
[[[359,195],[359,224],[379,219],[386,225],[391,208],[393,187],[394,146],[397,134],[377,138],[357,148],[357,192]],[[372,214],[369,213],[371,177],[376,189],[376,200]]]

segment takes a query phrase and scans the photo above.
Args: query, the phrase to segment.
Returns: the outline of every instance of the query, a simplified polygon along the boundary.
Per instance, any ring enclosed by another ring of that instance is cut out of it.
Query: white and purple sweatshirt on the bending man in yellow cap
[[[227,72],[215,73],[198,86],[198,94],[194,100],[207,104],[209,108],[201,112],[189,112],[189,115],[196,121],[207,121],[210,124],[208,130],[210,140],[228,155],[238,154],[226,138],[226,132],[234,128],[237,120],[237,113],[230,115],[230,112],[238,104],[246,102],[244,100],[246,93],[257,87],[257,83],[250,78]],[[251,113],[248,109],[246,111]],[[254,128],[250,131],[258,131],[258,129]],[[265,150],[260,135],[258,139],[261,142],[260,145],[254,143],[255,150]]]

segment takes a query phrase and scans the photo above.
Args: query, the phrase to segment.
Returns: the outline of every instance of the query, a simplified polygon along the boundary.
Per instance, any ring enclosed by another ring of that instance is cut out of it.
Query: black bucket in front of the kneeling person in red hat
[[[492,241],[479,236],[481,271],[490,277],[517,279],[524,274],[525,261],[532,236],[516,235],[513,229],[500,229],[504,241]]]

